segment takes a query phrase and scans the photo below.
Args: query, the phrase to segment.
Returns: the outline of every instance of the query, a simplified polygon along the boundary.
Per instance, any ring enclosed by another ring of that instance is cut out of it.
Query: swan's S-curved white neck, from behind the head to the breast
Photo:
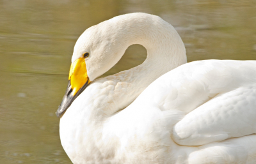
[[[122,24],[114,24],[115,33],[124,34],[116,39],[116,42],[124,47],[123,52],[130,45],[140,44],[147,49],[147,59],[135,68],[100,79],[102,82],[113,81],[115,86],[115,90],[109,91],[113,103],[106,101],[105,112],[113,114],[127,107],[154,80],[187,62],[186,49],[177,31],[159,17],[154,19],[147,21],[142,17],[131,18],[131,21],[128,18],[123,19]]]

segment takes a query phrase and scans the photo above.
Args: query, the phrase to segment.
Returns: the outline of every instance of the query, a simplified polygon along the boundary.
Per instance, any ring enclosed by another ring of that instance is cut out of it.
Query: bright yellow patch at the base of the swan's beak
[[[76,61],[71,64],[68,80],[70,80],[73,96],[76,95],[79,89],[81,89],[87,81],[88,84],[90,83],[84,57],[79,57],[79,59],[76,59]]]

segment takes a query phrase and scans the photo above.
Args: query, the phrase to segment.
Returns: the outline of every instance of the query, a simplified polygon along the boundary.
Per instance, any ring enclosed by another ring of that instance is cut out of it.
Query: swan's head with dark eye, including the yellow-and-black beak
[[[129,46],[115,33],[115,25],[107,20],[92,26],[79,37],[74,47],[68,76],[68,87],[56,114],[61,117],[84,89],[112,66]],[[118,40],[119,39],[119,40]]]

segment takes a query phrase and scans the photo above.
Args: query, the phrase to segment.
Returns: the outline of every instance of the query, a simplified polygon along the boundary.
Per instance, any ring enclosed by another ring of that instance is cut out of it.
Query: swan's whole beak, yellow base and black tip
[[[58,117],[63,116],[67,108],[70,107],[72,102],[84,91],[89,83],[90,80],[87,75],[84,57],[80,57],[70,66],[67,91],[56,112]]]

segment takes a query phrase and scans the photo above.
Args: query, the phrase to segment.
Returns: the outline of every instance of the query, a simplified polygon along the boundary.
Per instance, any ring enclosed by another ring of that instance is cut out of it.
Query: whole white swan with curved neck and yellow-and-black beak
[[[144,63],[97,78],[133,44]],[[256,61],[187,63],[173,26],[120,15],[77,40],[56,114],[73,163],[256,163]]]

